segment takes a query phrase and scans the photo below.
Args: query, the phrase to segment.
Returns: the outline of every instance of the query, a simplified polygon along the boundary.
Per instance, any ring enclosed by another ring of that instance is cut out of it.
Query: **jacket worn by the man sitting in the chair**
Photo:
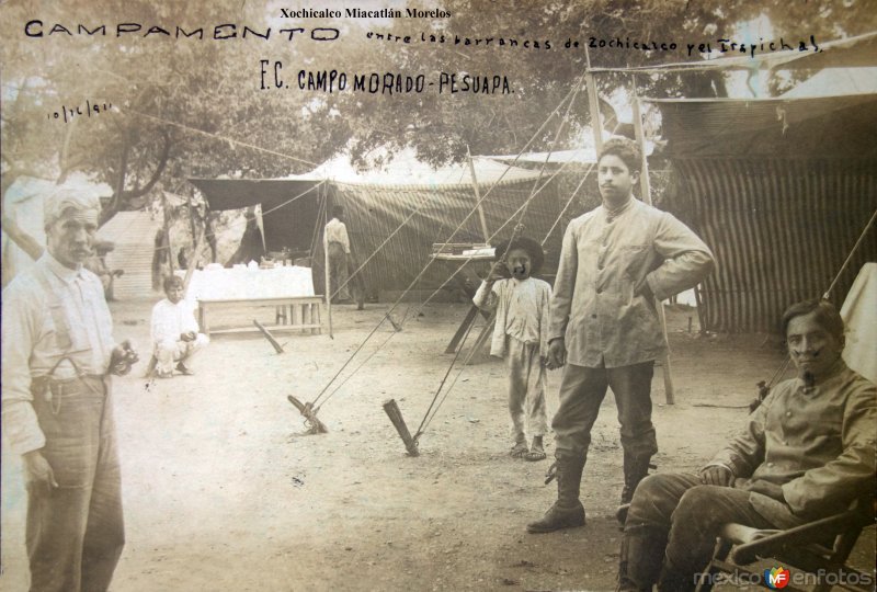
[[[782,486],[786,503],[752,493],[752,506],[782,527],[845,510],[874,489],[877,386],[838,361],[822,383],[779,383],[745,429],[709,463],[738,479]]]

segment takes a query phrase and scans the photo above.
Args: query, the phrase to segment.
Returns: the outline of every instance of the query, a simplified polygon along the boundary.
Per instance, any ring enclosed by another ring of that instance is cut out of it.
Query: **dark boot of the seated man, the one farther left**
[[[648,526],[627,528],[618,558],[619,592],[648,591],[658,582],[667,547],[667,532]]]

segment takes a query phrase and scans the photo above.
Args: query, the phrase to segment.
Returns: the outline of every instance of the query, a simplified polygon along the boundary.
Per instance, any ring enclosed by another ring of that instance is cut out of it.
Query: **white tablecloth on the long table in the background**
[[[185,272],[178,273],[185,275]],[[310,267],[196,270],[192,274],[186,293],[186,299],[192,303],[224,299],[259,300],[297,296],[314,296]]]

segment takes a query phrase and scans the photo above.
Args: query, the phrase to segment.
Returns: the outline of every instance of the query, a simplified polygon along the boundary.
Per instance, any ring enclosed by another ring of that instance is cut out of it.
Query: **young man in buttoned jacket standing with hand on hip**
[[[688,227],[634,197],[641,156],[627,138],[608,140],[597,161],[603,205],[567,227],[551,298],[548,367],[563,367],[551,428],[557,501],[531,533],[582,526],[579,501],[591,428],[612,388],[624,448],[618,520],[658,452],[651,422],[654,361],[664,338],[656,298],[691,288],[713,270],[713,253]]]

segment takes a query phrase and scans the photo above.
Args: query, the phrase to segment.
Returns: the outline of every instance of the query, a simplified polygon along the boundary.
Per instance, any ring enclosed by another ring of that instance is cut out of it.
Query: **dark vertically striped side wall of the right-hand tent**
[[[877,161],[850,158],[677,158],[695,228],[718,269],[704,283],[710,331],[775,331],[790,304],[821,296],[877,207]],[[831,300],[843,303],[872,230]]]

